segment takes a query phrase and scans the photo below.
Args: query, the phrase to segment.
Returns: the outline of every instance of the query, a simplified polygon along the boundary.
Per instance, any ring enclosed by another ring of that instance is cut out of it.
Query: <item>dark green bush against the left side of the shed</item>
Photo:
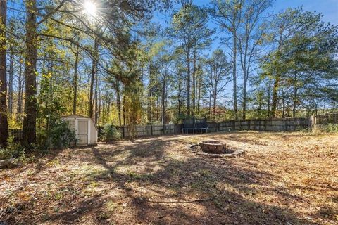
[[[69,128],[67,122],[56,120],[46,136],[45,148],[70,148],[75,146],[75,131]]]

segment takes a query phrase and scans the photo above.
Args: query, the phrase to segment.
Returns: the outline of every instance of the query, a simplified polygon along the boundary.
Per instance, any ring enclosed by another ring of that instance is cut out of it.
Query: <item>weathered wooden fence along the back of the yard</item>
[[[257,120],[227,120],[224,122],[208,122],[209,132],[222,131],[301,131],[311,129],[311,117],[299,118],[277,118],[277,119],[257,119]],[[102,132],[102,127],[98,127],[99,136]],[[130,136],[127,126],[116,127],[120,131],[122,138]],[[192,132],[192,131],[190,131]],[[163,124],[163,125],[145,125],[136,126],[136,136],[162,136],[182,134],[182,124]],[[20,129],[11,129],[10,134],[15,137],[15,140],[22,138]]]

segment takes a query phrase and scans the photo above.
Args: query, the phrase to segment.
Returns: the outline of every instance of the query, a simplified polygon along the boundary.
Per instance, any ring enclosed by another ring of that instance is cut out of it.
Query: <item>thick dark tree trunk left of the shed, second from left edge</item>
[[[36,142],[37,122],[37,6],[36,0],[26,1],[25,39],[25,118],[23,119],[23,145]]]

